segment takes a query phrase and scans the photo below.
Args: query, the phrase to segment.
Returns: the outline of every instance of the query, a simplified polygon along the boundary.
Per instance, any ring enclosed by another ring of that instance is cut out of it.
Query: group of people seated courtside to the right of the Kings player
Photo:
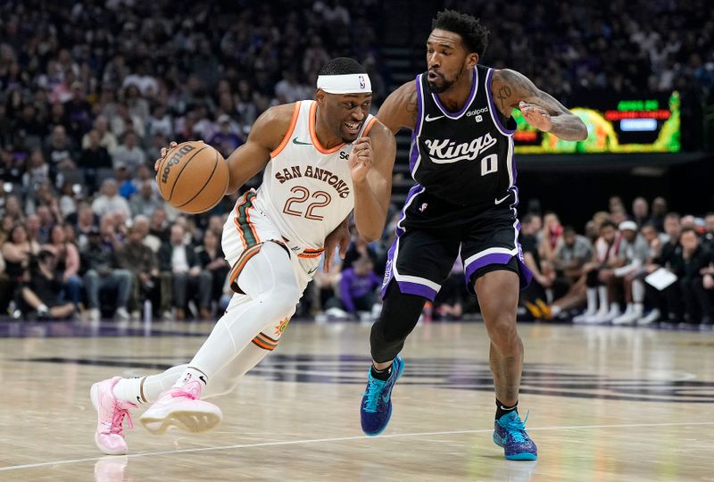
[[[596,212],[584,235],[558,215],[528,213],[520,241],[534,273],[521,304],[537,320],[709,326],[714,316],[714,212],[704,217],[669,212],[636,197],[628,210],[619,196]]]

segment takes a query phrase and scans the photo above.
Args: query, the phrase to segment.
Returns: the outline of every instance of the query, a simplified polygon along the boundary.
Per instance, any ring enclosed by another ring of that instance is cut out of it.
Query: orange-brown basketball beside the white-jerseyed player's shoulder
[[[156,172],[163,198],[189,214],[219,204],[228,188],[228,164],[203,141],[188,141],[172,148]]]

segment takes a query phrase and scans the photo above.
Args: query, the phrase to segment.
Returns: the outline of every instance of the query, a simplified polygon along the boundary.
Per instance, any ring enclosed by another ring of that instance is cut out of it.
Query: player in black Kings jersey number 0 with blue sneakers
[[[527,286],[531,273],[518,243],[511,112],[519,109],[531,126],[561,139],[584,140],[587,129],[519,72],[478,64],[488,34],[470,15],[439,12],[427,41],[428,71],[395,90],[378,112],[394,133],[411,129],[416,184],[386,264],[361,425],[368,435],[386,428],[391,391],[404,366],[397,354],[461,249],[466,284],[477,295],[491,339],[494,442],[507,459],[535,460],[535,444],[517,412],[523,343],[516,307],[519,288]]]

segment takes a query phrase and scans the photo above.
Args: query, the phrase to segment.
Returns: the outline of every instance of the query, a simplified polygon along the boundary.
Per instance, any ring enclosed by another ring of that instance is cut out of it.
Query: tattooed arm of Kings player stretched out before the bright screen
[[[585,122],[517,71],[494,71],[491,92],[496,107],[506,117],[511,117],[513,109],[519,109],[528,124],[535,129],[550,132],[565,140],[580,141],[587,138]]]

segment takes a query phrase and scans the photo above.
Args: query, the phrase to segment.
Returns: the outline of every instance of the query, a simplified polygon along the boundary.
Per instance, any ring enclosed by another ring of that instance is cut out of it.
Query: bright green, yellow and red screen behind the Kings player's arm
[[[679,93],[643,98],[594,97],[571,112],[585,122],[584,141],[560,140],[530,127],[520,111],[513,112],[516,154],[678,153]]]

